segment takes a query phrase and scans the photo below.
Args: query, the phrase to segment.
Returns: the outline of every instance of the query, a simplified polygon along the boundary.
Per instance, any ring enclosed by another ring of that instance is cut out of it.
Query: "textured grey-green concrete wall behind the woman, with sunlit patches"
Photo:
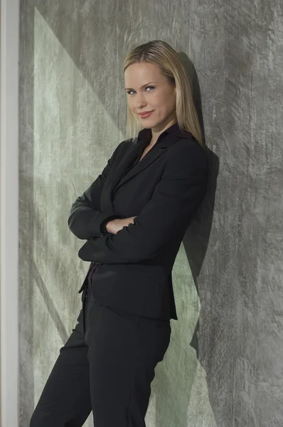
[[[283,425],[282,36],[281,0],[22,1],[21,426],[80,310],[70,205],[124,139],[125,53],[157,38],[196,67],[211,173],[146,423]]]

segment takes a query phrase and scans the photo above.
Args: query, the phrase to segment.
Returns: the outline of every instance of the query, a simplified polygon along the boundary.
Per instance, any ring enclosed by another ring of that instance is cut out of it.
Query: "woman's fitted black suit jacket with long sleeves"
[[[208,159],[191,133],[175,123],[137,162],[150,139],[151,130],[143,129],[136,143],[119,143],[102,173],[73,203],[68,225],[87,240],[79,257],[98,264],[92,286],[98,302],[177,320],[171,270],[203,200]],[[134,224],[117,234],[103,231],[106,221],[129,216],[137,216]],[[86,283],[87,276],[82,288]]]

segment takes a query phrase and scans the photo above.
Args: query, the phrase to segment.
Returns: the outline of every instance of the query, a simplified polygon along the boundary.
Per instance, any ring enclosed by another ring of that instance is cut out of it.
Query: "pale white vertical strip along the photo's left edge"
[[[1,427],[18,409],[18,58],[19,0],[1,0]]]

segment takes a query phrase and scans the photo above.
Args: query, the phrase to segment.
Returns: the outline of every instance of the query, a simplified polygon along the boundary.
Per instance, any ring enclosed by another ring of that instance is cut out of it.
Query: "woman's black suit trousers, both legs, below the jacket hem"
[[[154,368],[171,337],[170,320],[101,305],[88,285],[77,325],[60,348],[30,427],[145,427]]]

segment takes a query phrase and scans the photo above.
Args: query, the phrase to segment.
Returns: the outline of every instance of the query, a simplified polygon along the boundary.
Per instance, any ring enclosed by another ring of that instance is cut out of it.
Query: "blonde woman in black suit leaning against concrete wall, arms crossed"
[[[68,224],[90,269],[78,323],[50,373],[31,427],[144,427],[154,368],[177,320],[171,270],[205,194],[208,162],[191,83],[164,41],[124,62],[128,131],[75,200]]]

